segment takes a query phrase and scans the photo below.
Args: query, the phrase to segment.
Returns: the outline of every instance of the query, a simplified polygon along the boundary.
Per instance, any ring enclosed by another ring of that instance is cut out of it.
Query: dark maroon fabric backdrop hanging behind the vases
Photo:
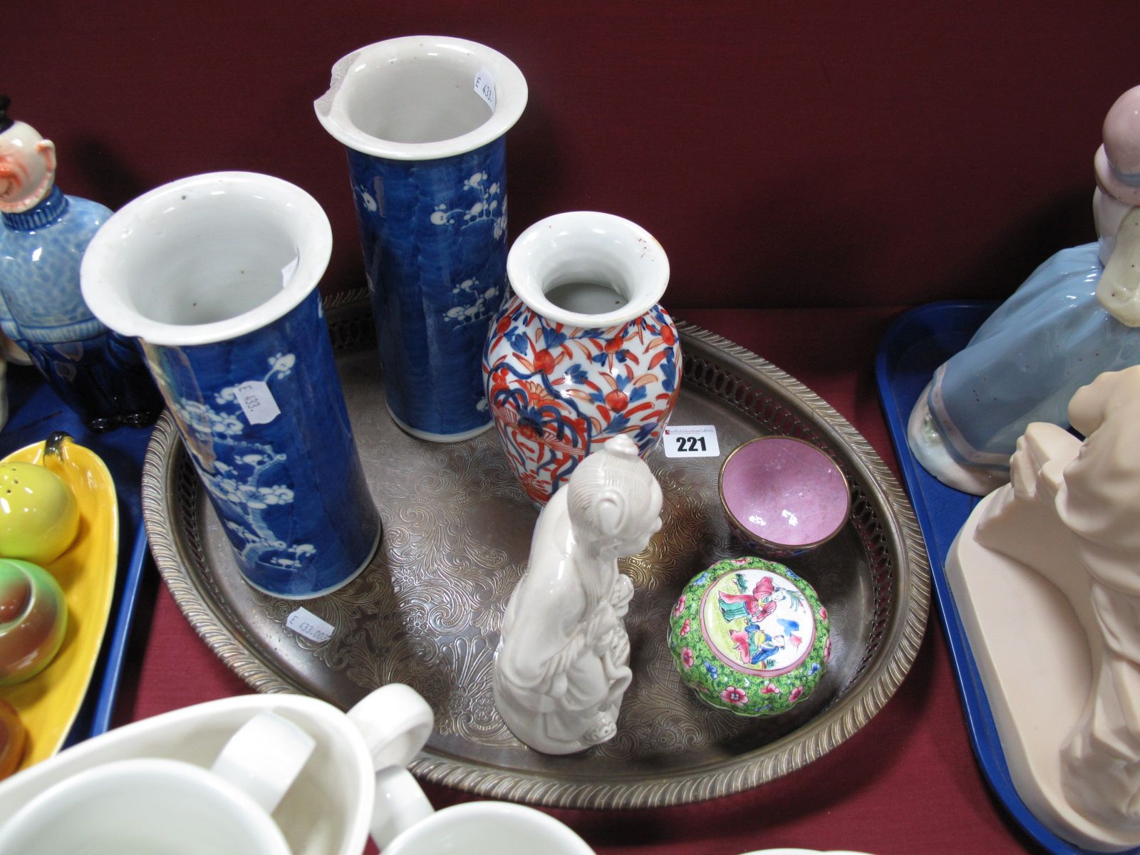
[[[665,245],[667,304],[1004,295],[1091,239],[1092,155],[1140,83],[1140,5],[653,0],[6,3],[0,91],[117,207],[244,169],[333,220],[326,290],[363,285],[344,157],[312,100],[396,35],[484,42],[530,103],[508,136],[513,234],[559,211]]]

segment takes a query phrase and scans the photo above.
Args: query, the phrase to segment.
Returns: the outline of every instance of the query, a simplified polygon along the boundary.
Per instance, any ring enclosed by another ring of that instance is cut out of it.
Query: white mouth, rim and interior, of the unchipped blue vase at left
[[[83,258],[83,299],[112,329],[155,344],[206,344],[284,316],[332,252],[309,194],[251,172],[174,181],[116,212]]]

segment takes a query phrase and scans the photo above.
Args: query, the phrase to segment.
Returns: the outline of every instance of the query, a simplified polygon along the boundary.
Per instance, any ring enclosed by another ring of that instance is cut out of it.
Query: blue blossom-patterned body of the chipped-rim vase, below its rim
[[[421,439],[477,435],[491,425],[481,355],[506,292],[505,141],[348,158],[388,408]]]

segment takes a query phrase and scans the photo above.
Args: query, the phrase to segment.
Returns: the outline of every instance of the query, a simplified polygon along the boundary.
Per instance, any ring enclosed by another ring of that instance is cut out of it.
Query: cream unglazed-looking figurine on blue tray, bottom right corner
[[[1059,837],[1140,846],[1140,366],[1034,423],[946,572],[1018,795]]]

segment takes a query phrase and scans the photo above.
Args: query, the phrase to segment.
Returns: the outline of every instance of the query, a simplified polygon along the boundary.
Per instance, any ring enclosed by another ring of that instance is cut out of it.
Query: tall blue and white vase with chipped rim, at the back
[[[527,82],[502,54],[442,36],[369,44],[316,101],[348,149],[388,409],[421,439],[491,425],[480,359],[506,293],[506,131]]]

